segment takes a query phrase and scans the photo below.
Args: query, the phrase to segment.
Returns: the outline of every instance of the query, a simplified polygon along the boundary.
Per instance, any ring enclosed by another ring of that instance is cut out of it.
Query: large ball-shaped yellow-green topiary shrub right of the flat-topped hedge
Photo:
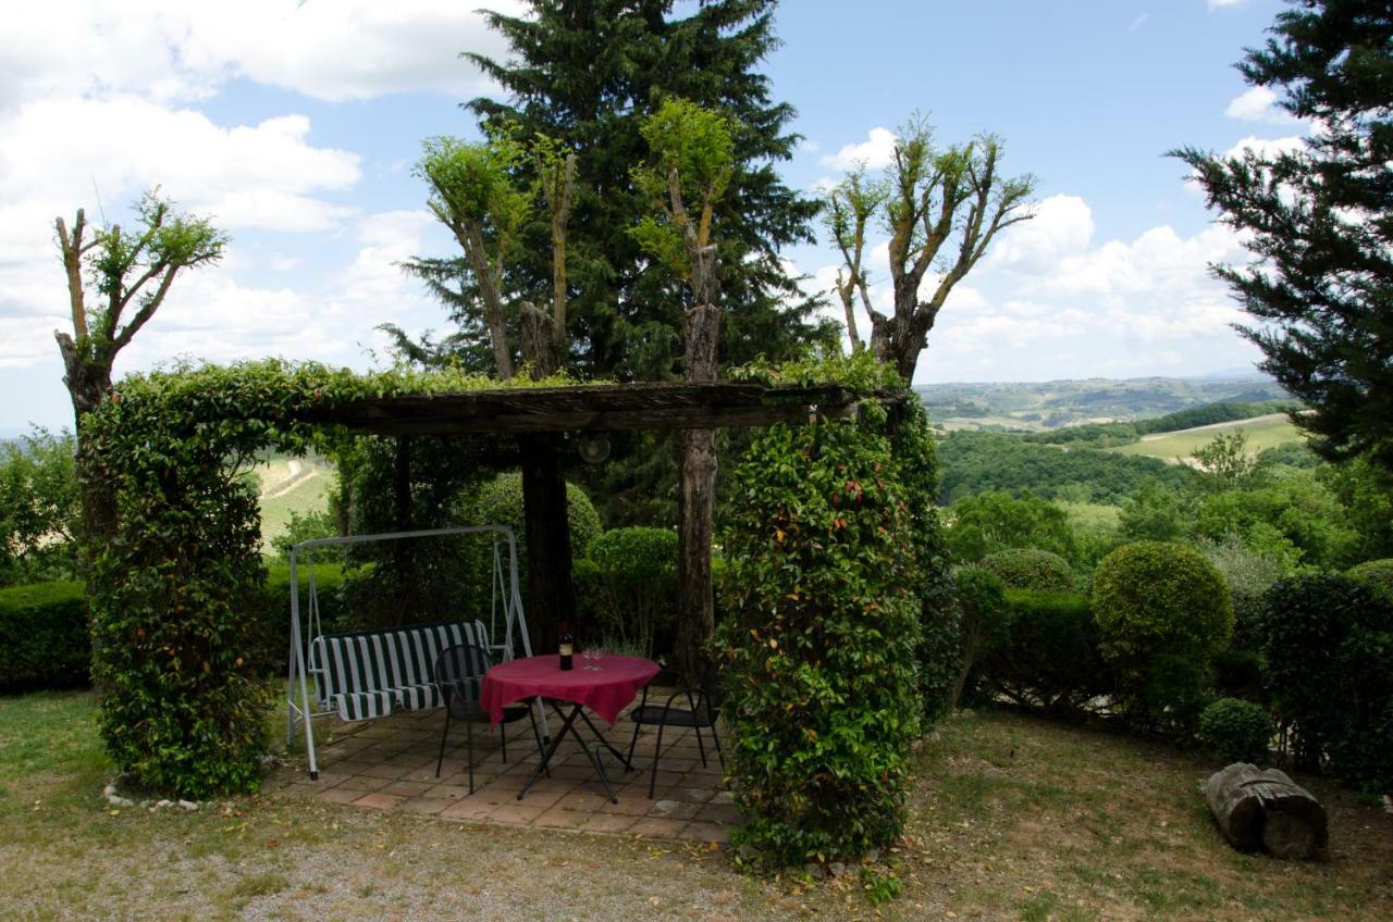
[[[1233,636],[1233,602],[1219,571],[1183,545],[1124,545],[1098,564],[1092,604],[1126,714],[1188,730],[1209,663]]]

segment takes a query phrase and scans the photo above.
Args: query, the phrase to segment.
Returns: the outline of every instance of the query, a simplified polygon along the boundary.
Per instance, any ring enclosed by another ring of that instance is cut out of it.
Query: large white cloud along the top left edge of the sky
[[[495,1],[520,13],[517,0]],[[501,54],[474,4],[454,0],[102,0],[31,4],[0,32],[0,107],[36,95],[137,92],[201,99],[231,78],[327,100],[436,91],[483,75],[458,53]]]

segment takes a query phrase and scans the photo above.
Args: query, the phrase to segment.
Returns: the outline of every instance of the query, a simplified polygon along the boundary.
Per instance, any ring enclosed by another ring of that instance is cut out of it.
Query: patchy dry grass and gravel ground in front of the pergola
[[[110,811],[85,694],[0,699],[4,919],[1387,919],[1393,816],[1312,783],[1332,859],[1231,852],[1197,786],[1216,766],[1007,713],[919,753],[903,882],[744,876],[724,852],[277,797]]]

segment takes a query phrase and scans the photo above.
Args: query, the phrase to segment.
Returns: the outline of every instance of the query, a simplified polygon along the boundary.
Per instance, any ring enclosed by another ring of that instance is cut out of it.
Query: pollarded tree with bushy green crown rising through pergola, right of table
[[[734,174],[733,123],[722,113],[685,99],[669,99],[644,121],[649,160],[634,170],[656,212],[631,231],[653,259],[685,279],[695,305],[683,325],[687,380],[716,377],[720,343],[720,255],[713,235],[716,206]],[[681,554],[677,579],[678,669],[701,673],[701,645],[715,627],[710,542],[716,510],[716,433],[692,429],[683,436],[678,487]]]

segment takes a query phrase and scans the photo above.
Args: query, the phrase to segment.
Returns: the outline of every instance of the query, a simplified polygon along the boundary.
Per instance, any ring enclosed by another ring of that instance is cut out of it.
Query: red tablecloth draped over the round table
[[[577,656],[575,669],[563,673],[556,653],[499,663],[483,677],[479,705],[497,724],[507,705],[540,695],[585,705],[613,724],[659,670],[657,663],[637,656],[606,655],[599,671],[582,669],[584,664]]]

